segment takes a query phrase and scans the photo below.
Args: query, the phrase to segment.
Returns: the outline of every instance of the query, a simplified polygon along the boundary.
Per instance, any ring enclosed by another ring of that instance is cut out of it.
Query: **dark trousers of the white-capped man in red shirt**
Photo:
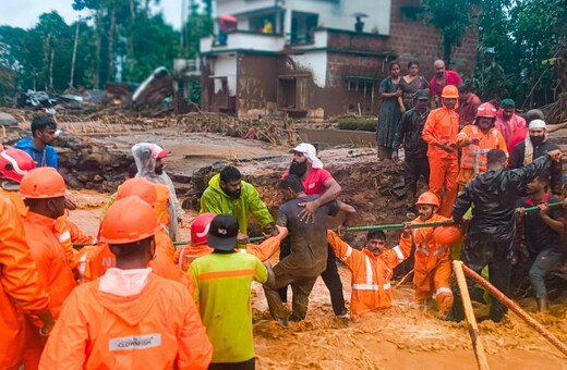
[[[285,257],[291,254],[291,244],[289,236],[285,238],[279,246],[279,260],[281,261]],[[328,247],[327,255],[327,269],[321,274],[323,282],[329,289],[330,304],[335,314],[343,314],[347,312],[345,306],[345,295],[342,293],[342,282],[340,281],[339,272],[337,269],[337,257],[330,246]],[[279,297],[282,303],[288,301],[288,284],[281,285],[278,288]]]

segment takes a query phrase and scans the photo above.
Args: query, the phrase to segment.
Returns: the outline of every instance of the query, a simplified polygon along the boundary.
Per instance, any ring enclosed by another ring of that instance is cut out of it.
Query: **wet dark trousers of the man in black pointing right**
[[[511,244],[512,240],[493,240],[490,235],[468,236],[462,246],[461,258],[462,262],[481,274],[482,269],[488,266],[488,280],[498,291],[506,296],[510,289],[510,273],[511,273]],[[479,294],[482,295],[481,289],[474,286],[474,281],[467,278],[467,286],[472,299],[479,300]],[[447,320],[462,321],[465,319],[465,311],[462,308],[462,299],[459,287],[453,287],[455,300],[453,307],[447,316]],[[491,304],[491,320],[499,322],[508,308],[496,299],[492,299]]]

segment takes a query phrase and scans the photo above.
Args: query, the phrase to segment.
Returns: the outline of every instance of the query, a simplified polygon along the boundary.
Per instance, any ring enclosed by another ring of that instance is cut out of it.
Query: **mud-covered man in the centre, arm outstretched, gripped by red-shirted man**
[[[300,178],[293,174],[284,178],[278,188],[286,202],[279,208],[277,225],[288,227],[291,252],[274,267],[275,284],[265,286],[264,291],[272,316],[287,325],[288,316],[276,289],[291,285],[293,299],[290,319],[303,320],[307,312],[309,295],[328,263],[327,217],[343,211],[348,219],[348,214],[355,211],[351,206],[333,200],[317,208],[313,222],[304,222],[299,215],[300,205],[314,201],[318,196],[307,196]]]

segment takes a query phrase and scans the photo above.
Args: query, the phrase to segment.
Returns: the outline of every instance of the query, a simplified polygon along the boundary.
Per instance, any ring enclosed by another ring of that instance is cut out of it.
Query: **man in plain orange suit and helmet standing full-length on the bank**
[[[450,217],[457,199],[459,160],[455,139],[459,133],[459,114],[455,108],[458,99],[457,87],[445,86],[442,94],[443,107],[431,111],[422,134],[429,146],[430,192],[443,199],[437,213],[444,217]]]

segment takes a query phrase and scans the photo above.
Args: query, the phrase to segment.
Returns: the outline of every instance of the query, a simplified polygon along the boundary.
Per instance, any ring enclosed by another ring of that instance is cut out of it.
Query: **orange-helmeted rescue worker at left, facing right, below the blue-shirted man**
[[[39,280],[51,298],[49,309],[56,319],[63,300],[76,286],[56,230],[56,220],[63,215],[65,195],[69,194],[63,177],[49,166],[29,171],[20,184],[20,195],[28,208],[24,218],[25,237],[37,266]],[[27,329],[25,367],[36,369],[44,343],[31,323],[27,323]]]

